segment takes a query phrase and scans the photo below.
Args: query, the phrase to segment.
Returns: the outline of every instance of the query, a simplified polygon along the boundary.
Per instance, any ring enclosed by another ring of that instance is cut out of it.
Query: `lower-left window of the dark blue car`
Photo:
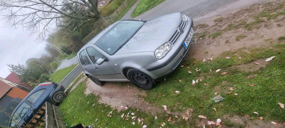
[[[31,109],[31,106],[27,103],[23,102],[19,108],[15,111],[14,115],[12,115],[12,121],[10,126],[14,127],[16,124],[18,124],[23,116],[26,115],[26,113]]]

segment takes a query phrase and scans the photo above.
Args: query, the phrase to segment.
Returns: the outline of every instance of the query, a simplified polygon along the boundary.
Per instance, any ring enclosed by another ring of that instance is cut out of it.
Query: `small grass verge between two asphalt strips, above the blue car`
[[[69,67],[60,69],[56,71],[51,77],[51,81],[56,83],[60,82],[76,65],[71,65]]]

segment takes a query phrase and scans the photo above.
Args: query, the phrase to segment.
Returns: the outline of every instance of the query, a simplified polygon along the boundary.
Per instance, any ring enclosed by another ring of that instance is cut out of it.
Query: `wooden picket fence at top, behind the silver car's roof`
[[[108,19],[101,25],[101,28],[107,28],[109,25],[114,23],[114,21],[119,17],[119,15],[126,10],[129,4],[132,3],[134,0],[125,0],[124,3],[113,13],[111,14]]]

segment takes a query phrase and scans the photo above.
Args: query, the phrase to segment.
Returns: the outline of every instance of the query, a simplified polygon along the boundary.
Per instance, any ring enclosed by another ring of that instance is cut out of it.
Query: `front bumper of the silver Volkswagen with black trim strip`
[[[187,36],[189,35],[191,28],[193,28],[193,20],[189,17],[188,19],[191,20],[190,22],[191,24],[188,23],[185,29],[188,31],[187,33],[186,31],[185,33],[183,33],[180,39],[173,46],[172,51],[168,53],[161,60],[143,66],[141,68],[141,71],[147,73],[153,79],[159,81],[163,79],[167,74],[171,73],[181,63],[186,53],[188,52],[193,39],[192,36],[190,44],[188,45],[187,49],[185,49],[183,46],[183,42],[186,40]]]

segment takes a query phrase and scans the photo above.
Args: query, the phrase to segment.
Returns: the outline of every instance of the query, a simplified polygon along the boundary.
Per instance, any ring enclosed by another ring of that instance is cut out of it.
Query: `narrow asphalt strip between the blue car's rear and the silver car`
[[[83,71],[82,71],[81,67],[77,66],[60,84],[62,84],[64,87],[67,87],[82,72]]]

